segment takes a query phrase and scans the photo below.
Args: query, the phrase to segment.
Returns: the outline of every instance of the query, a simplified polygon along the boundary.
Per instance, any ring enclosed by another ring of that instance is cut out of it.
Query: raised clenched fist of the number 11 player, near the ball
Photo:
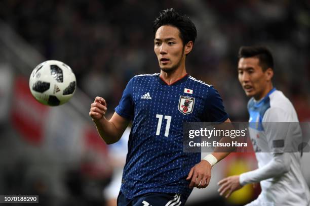
[[[94,122],[99,121],[102,118],[104,118],[106,110],[107,108],[105,99],[100,96],[97,96],[94,102],[91,104],[89,116],[93,118]]]

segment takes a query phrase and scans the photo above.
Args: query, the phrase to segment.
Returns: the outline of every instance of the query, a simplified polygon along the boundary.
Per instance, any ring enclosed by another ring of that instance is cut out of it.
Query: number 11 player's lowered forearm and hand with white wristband
[[[230,123],[227,118],[225,123]],[[230,152],[213,152],[207,155],[200,163],[192,167],[188,173],[186,180],[190,180],[189,188],[205,188],[209,185],[211,179],[212,166],[224,159]]]

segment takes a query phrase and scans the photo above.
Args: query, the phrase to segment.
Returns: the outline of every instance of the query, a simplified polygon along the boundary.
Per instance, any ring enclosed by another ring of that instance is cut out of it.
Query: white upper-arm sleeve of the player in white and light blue
[[[299,123],[292,122],[286,111],[269,108],[264,114],[262,126],[271,152],[297,151],[296,143],[301,138]]]

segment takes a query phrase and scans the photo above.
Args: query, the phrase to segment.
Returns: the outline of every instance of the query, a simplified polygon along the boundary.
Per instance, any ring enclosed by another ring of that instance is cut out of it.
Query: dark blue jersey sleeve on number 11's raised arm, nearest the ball
[[[115,112],[118,115],[133,120],[134,117],[134,104],[133,104],[133,78],[129,80],[125,90],[123,91],[123,96],[120,100],[119,105],[115,108]]]

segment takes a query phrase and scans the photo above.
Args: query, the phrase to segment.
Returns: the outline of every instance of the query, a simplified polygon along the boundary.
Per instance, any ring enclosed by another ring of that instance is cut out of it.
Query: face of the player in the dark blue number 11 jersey
[[[192,41],[183,46],[180,31],[174,26],[161,26],[155,34],[154,52],[164,72],[172,72],[182,66],[185,68],[185,56],[191,48]]]

